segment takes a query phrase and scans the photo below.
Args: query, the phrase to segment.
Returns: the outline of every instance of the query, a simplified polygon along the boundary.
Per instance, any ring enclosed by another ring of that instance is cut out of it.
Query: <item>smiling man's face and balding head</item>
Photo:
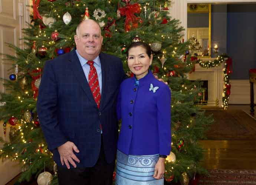
[[[101,28],[92,20],[84,21],[75,35],[76,49],[86,60],[94,60],[101,52]]]

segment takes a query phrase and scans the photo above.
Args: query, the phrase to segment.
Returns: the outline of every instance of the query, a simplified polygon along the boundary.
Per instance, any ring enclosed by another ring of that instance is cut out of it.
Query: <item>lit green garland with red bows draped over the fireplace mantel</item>
[[[222,94],[222,102],[223,102],[222,107],[224,108],[224,110],[226,110],[229,104],[229,96],[230,96],[230,88],[231,88],[231,84],[229,83],[229,77],[230,77],[230,74],[232,74],[232,58],[230,58],[226,54],[219,55],[217,59],[213,61],[211,60],[202,61],[197,57],[191,57],[191,61],[195,61],[195,60],[196,60],[195,63],[199,64],[201,67],[204,67],[204,68],[217,67],[223,62],[226,62],[223,68],[224,87],[223,87],[223,94]]]

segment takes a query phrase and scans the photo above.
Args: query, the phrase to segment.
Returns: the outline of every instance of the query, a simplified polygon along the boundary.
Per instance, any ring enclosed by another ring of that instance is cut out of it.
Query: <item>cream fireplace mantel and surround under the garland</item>
[[[215,60],[216,58],[200,58],[202,61]],[[188,74],[189,80],[207,80],[208,81],[208,102],[207,106],[215,107],[222,105],[222,94],[224,87],[223,68],[225,63],[213,68],[204,68],[196,64],[196,70]],[[216,102],[219,102],[216,105]]]

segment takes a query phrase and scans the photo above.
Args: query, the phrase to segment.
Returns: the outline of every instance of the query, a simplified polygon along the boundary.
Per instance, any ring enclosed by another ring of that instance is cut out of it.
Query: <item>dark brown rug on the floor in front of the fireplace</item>
[[[243,110],[206,110],[213,114],[214,123],[206,139],[256,139],[256,120]]]

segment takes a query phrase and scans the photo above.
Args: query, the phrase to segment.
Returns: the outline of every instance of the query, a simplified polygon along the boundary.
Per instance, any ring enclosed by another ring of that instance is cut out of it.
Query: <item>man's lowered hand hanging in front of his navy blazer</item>
[[[70,162],[70,164],[72,164],[76,168],[76,164],[73,161],[73,159],[76,162],[80,162],[79,159],[76,157],[76,155],[73,153],[73,150],[76,153],[79,153],[79,150],[76,147],[76,145],[73,142],[70,142],[70,141],[65,142],[63,145],[58,147],[61,164],[63,166],[64,163],[65,163],[68,169],[70,168],[69,162]]]

